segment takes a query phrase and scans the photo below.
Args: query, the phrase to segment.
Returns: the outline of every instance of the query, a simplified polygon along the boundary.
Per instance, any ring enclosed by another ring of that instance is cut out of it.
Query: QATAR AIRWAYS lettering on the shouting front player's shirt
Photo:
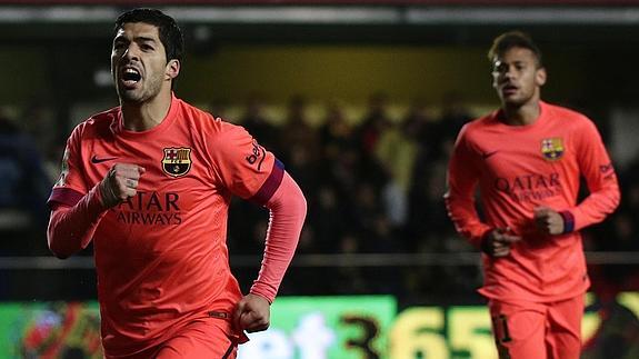
[[[180,225],[180,196],[176,192],[142,192],[120,203],[118,222],[127,225]]]

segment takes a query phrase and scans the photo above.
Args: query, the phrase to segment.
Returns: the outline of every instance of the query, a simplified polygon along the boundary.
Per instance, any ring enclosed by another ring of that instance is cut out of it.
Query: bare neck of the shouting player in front
[[[162,123],[171,107],[171,92],[160,92],[143,102],[120,100],[124,128],[130,131],[147,131]]]

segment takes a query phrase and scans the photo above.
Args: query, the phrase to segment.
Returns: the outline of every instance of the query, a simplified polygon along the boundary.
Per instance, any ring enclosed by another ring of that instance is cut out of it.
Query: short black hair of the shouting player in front
[[[116,19],[113,36],[118,33],[118,30],[124,27],[124,23],[132,22],[143,22],[157,27],[160,41],[164,46],[167,61],[173,59],[180,62],[182,61],[184,38],[182,30],[180,30],[180,27],[173,18],[157,9],[132,9],[121,13],[118,19]]]

